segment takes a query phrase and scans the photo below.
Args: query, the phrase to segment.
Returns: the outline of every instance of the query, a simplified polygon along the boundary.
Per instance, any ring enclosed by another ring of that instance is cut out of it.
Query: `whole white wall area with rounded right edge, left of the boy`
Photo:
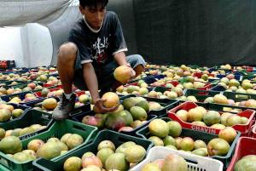
[[[49,29],[36,23],[0,28],[0,60],[15,60],[17,67],[49,66],[53,46]]]

